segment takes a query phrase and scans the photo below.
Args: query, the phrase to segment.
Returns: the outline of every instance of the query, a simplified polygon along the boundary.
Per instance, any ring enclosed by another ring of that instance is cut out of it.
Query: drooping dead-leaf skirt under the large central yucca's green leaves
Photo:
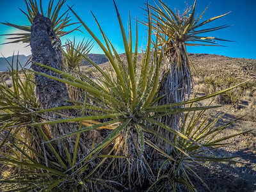
[[[141,145],[144,143],[141,143],[136,129],[141,128],[135,124],[128,125],[116,139],[114,154],[125,158],[116,158],[115,161],[112,161],[115,169],[109,170],[109,172],[113,179],[118,180],[130,190],[140,191],[143,184],[154,180],[154,174],[145,159],[147,154],[141,151]],[[145,148],[147,145],[143,147]]]

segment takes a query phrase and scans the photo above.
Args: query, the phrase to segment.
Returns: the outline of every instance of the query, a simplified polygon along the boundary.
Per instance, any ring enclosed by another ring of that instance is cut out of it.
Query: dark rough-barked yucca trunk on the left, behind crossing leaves
[[[31,68],[36,72],[47,74],[54,77],[60,77],[60,75],[52,72],[51,70],[36,65],[36,63],[42,63],[49,67],[61,70],[62,66],[62,54],[61,54],[61,42],[60,39],[55,35],[52,30],[52,23],[44,15],[36,15],[33,19],[33,24],[31,26],[31,52],[32,52],[32,65]],[[40,102],[40,106],[43,109],[56,108],[60,106],[70,106],[70,102],[66,100],[69,99],[67,86],[60,81],[55,81],[48,77],[44,77],[35,74],[36,83],[36,97]],[[75,116],[76,111],[74,110],[61,110],[58,111],[63,115]],[[54,120],[56,118],[63,118],[61,115],[56,113],[45,113],[45,116],[49,120]],[[76,131],[79,128],[78,124],[52,124],[49,125],[49,136],[51,138],[56,138],[60,135],[67,134],[68,132]],[[89,134],[89,133],[87,133]],[[49,139],[51,139],[49,138]],[[79,141],[78,151],[81,152],[82,156],[86,154],[92,146],[89,146],[90,140],[93,138],[88,138],[86,134],[81,134],[81,139]],[[58,140],[56,145],[61,156],[65,157],[65,151],[63,146],[65,146],[70,155],[74,152],[74,145],[76,142],[76,136],[70,136],[64,140]],[[65,143],[65,145],[63,144]]]

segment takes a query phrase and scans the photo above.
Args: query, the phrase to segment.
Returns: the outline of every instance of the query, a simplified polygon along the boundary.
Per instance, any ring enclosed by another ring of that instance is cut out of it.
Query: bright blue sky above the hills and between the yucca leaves
[[[55,0],[56,2],[58,0]],[[39,0],[38,0],[39,2]],[[46,10],[47,3],[49,1],[44,0],[44,7]],[[144,19],[143,10],[140,6],[145,7],[143,3],[145,0],[116,0],[118,10],[122,17],[124,26],[127,26],[127,20],[129,11],[131,12],[131,17],[138,17],[139,19]],[[184,0],[163,0],[165,4],[168,4],[172,10],[174,8],[179,8],[182,12],[186,8]],[[194,0],[186,0],[189,5],[193,5]],[[153,0],[149,0],[150,4],[154,4]],[[73,6],[73,10],[84,20],[84,22],[91,28],[95,35],[101,37],[97,24],[90,13],[90,10],[94,13],[97,20],[100,22],[100,26],[111,40],[112,44],[115,45],[118,53],[124,52],[124,47],[122,45],[122,37],[120,34],[120,29],[118,26],[118,20],[116,18],[115,8],[113,6],[112,0],[67,0],[66,4]],[[215,17],[222,15],[223,13],[231,12],[227,16],[214,20],[205,27],[220,26],[223,24],[230,24],[229,28],[221,29],[219,31],[214,31],[207,33],[205,35],[216,36],[218,38],[224,38],[227,40],[232,40],[235,42],[220,42],[221,45],[227,47],[188,47],[188,52],[193,53],[209,53],[209,54],[220,54],[223,56],[230,56],[234,58],[252,58],[256,59],[256,23],[255,23],[255,0],[198,0],[196,6],[196,13],[202,13],[204,8],[210,4],[207,12],[205,12],[202,21],[209,19],[210,17]],[[1,0],[0,8],[0,22],[5,20],[14,24],[29,24],[26,16],[20,12],[19,8],[26,10],[26,5],[22,0]],[[67,6],[63,7],[66,10]],[[76,17],[72,15],[72,19],[76,20]],[[135,28],[134,28],[135,29]],[[65,43],[65,38],[73,39],[76,36],[78,40],[83,38],[91,38],[85,29],[81,27],[84,33],[77,31],[61,39],[62,43]],[[147,28],[139,24],[139,45],[144,47],[147,39]],[[0,24],[0,34],[15,33],[16,31],[8,26]],[[0,43],[6,42],[4,39],[6,36],[0,36]],[[29,47],[24,48],[24,44],[12,44],[12,45],[0,45],[0,52],[4,56],[12,55],[13,51],[17,53],[19,50],[20,54],[29,54]],[[95,45],[93,47],[92,53],[102,53],[99,47]],[[1,55],[0,55],[1,56]]]

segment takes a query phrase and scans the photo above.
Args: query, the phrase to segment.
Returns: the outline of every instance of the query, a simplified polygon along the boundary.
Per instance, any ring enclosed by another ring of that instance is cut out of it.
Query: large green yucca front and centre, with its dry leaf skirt
[[[72,11],[75,15],[76,13]],[[116,11],[117,12],[117,11]],[[154,106],[159,90],[159,67],[161,63],[162,56],[157,54],[157,50],[151,51],[151,20],[149,15],[148,20],[148,44],[145,55],[139,64],[136,61],[136,55],[138,54],[138,37],[136,35],[135,43],[135,56],[132,58],[132,29],[131,24],[129,27],[129,38],[127,40],[124,28],[122,26],[122,21],[120,20],[120,15],[117,12],[118,20],[120,22],[120,29],[122,32],[122,38],[124,40],[126,62],[122,63],[120,57],[115,51],[113,45],[109,42],[106,35],[104,35],[102,29],[99,26],[99,29],[104,38],[106,47],[100,42],[99,38],[95,36],[92,31],[84,24],[77,15],[77,19],[81,22],[84,28],[92,35],[95,42],[99,44],[102,48],[102,51],[108,57],[109,63],[112,70],[110,72],[102,71],[95,63],[88,60],[92,65],[97,68],[99,71],[99,76],[97,82],[94,82],[90,79],[85,79],[86,81],[81,81],[76,77],[69,76],[46,65],[39,64],[42,67],[49,68],[54,72],[61,75],[65,79],[60,79],[58,77],[47,76],[46,74],[38,73],[45,77],[50,77],[56,79],[63,83],[71,84],[79,88],[84,89],[87,92],[88,97],[93,99],[97,104],[92,106],[86,104],[86,113],[88,116],[81,116],[77,118],[68,118],[64,120],[56,120],[54,122],[42,122],[36,125],[43,124],[55,124],[60,122],[72,122],[77,120],[103,120],[104,123],[97,124],[97,126],[105,126],[108,124],[118,124],[113,131],[107,131],[108,135],[104,138],[99,145],[93,148],[88,154],[86,154],[80,161],[72,166],[68,171],[79,166],[75,172],[70,173],[71,175],[84,175],[84,171],[88,168],[88,162],[91,162],[91,158],[94,157],[105,157],[103,158],[93,170],[90,170],[87,175],[84,176],[82,183],[88,187],[88,182],[92,182],[93,175],[97,175],[99,182],[106,183],[106,180],[109,182],[117,182],[122,187],[126,188],[136,188],[142,186],[147,180],[154,181],[155,175],[154,170],[151,169],[150,163],[148,161],[147,154],[148,150],[156,150],[161,154],[165,154],[163,150],[156,146],[156,143],[152,143],[149,140],[150,135],[157,136],[160,140],[166,141],[169,145],[172,145],[174,148],[180,152],[186,154],[179,147],[173,145],[172,141],[166,139],[163,135],[154,131],[152,127],[160,126],[163,129],[172,132],[174,135],[178,135],[184,140],[191,141],[184,134],[180,134],[168,127],[161,122],[155,120],[160,116],[166,116],[174,113],[179,113],[181,111],[196,111],[204,108],[215,108],[216,106],[207,106],[203,108],[175,108],[175,106],[182,106],[186,102],[180,102],[175,104],[166,104],[164,106]],[[96,20],[96,19],[95,19]],[[96,20],[97,22],[97,20]],[[99,22],[97,22],[99,25]],[[137,33],[136,33],[137,34]],[[155,44],[157,47],[157,41]],[[150,61],[150,54],[152,53],[152,60]],[[114,58],[115,56],[115,58]],[[138,65],[140,65],[141,71],[138,71]],[[138,76],[138,77],[136,77]],[[139,82],[136,82],[136,79],[140,79]],[[214,96],[211,95],[209,97]],[[200,99],[205,99],[203,97]],[[195,99],[195,100],[200,100]],[[188,101],[195,102],[195,100]],[[55,140],[61,140],[67,136],[77,134],[78,132],[84,132],[86,130],[95,129],[92,125],[81,129],[81,131],[75,131],[70,134],[66,134],[59,138],[54,138]],[[106,134],[106,131],[101,131],[101,134]],[[100,152],[105,154],[102,154]],[[110,173],[110,174],[109,174]],[[83,177],[82,177],[83,178]],[[87,183],[86,183],[87,182]],[[114,186],[118,186],[118,184]],[[118,186],[120,188],[120,186]]]

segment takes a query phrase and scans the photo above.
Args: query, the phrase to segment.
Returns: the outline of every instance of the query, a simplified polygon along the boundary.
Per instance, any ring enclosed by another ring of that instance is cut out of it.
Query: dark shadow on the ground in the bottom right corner
[[[214,152],[214,155],[220,157],[236,157],[233,161],[239,163],[222,162],[196,164],[196,173],[204,180],[211,191],[256,191],[255,154],[243,149],[237,152],[218,150],[218,152]],[[198,191],[207,191],[207,188],[205,188],[204,184],[199,180],[196,180],[196,187]]]

